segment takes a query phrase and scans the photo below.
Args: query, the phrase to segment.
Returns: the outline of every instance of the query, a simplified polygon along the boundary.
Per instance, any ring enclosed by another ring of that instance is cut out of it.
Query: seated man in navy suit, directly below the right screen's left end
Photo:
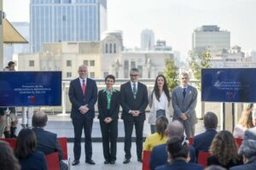
[[[198,152],[209,151],[212,144],[212,139],[217,133],[216,128],[218,126],[218,117],[211,111],[208,111],[204,116],[204,125],[206,131],[204,133],[198,134],[194,138],[195,155],[198,156]]]

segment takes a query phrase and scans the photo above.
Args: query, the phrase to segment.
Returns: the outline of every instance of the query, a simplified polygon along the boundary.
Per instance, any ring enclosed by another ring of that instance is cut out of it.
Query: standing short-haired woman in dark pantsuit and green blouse
[[[114,164],[116,160],[120,93],[113,88],[114,82],[115,77],[113,75],[105,77],[106,88],[102,89],[98,94],[98,118],[100,119],[102,130],[105,164]]]

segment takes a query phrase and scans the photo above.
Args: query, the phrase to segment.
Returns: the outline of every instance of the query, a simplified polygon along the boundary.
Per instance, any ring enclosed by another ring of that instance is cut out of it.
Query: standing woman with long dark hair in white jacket
[[[150,124],[151,133],[155,132],[155,121],[160,116],[166,116],[170,122],[172,116],[171,93],[167,87],[166,77],[159,75],[154,82],[154,89],[149,95],[150,114],[148,123]]]

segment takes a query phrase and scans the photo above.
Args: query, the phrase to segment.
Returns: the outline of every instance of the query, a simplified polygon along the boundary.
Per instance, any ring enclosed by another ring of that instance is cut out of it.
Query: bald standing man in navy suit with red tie
[[[94,165],[91,159],[91,130],[93,118],[95,117],[94,105],[97,99],[96,82],[87,77],[88,70],[86,65],[79,66],[79,78],[70,82],[69,99],[72,103],[71,118],[74,129],[74,161],[73,166],[79,164],[81,156],[81,136],[84,128],[85,137],[85,162]]]

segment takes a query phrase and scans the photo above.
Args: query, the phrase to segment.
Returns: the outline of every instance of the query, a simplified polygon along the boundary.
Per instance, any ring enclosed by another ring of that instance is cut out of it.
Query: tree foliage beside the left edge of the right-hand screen
[[[201,69],[202,68],[211,68],[211,59],[212,56],[208,52],[203,52],[201,54],[195,54],[194,52],[189,52],[191,69],[195,76],[195,79],[201,80]],[[201,82],[197,82],[196,86],[198,89],[201,89]]]

